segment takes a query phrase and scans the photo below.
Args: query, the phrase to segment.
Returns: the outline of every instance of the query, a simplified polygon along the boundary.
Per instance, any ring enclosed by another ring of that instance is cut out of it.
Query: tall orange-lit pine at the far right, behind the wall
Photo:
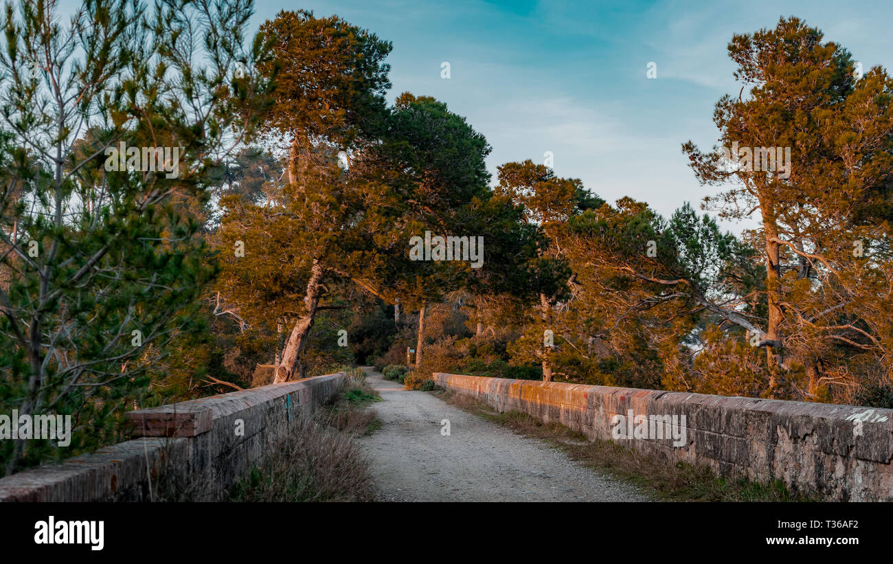
[[[767,312],[747,322],[716,313],[759,335],[772,391],[801,366],[815,398],[822,382],[849,379],[845,357],[887,354],[875,308],[890,299],[880,279],[890,264],[893,83],[880,67],[856,79],[850,54],[797,18],[734,36],[729,54],[749,90],[716,104],[726,155],[691,142],[683,152],[702,183],[734,184],[708,207],[733,219],[759,211]]]

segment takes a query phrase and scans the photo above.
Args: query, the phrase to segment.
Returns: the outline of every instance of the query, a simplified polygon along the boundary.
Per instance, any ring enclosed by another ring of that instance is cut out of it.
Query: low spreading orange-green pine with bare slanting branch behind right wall
[[[753,313],[753,251],[688,204],[664,220],[622,198],[575,216],[562,244],[575,275],[564,339],[599,383],[677,389],[705,327],[722,326],[715,311]]]

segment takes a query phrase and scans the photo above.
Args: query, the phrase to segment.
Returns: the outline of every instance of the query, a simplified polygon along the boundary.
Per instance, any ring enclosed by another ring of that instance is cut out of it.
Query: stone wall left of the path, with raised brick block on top
[[[131,411],[131,436],[63,464],[0,479],[0,502],[220,500],[299,418],[338,392],[344,372]],[[239,433],[238,431],[242,431]]]

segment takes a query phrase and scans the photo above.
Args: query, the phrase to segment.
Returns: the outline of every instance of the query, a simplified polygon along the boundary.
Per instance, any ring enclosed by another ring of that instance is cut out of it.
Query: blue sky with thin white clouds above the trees
[[[544,162],[548,151],[556,175],[663,215],[718,191],[697,183],[680,145],[717,143],[714,104],[741,87],[727,52],[733,34],[796,15],[865,71],[893,68],[889,0],[255,0],[255,24],[302,8],[391,41],[388,99],[431,95],[466,117],[493,147],[494,178],[499,164]],[[647,78],[649,62],[656,79]]]

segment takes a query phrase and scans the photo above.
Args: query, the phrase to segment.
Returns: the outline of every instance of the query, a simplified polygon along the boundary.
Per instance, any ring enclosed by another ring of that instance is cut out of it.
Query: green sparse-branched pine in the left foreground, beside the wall
[[[251,7],[91,0],[66,27],[54,3],[25,0],[0,18],[0,403],[73,415],[70,449],[105,444],[171,339],[195,330],[213,269],[173,203],[201,197],[214,160],[252,133],[268,85],[234,77],[265,56],[242,46]],[[0,448],[8,473],[59,454]]]

